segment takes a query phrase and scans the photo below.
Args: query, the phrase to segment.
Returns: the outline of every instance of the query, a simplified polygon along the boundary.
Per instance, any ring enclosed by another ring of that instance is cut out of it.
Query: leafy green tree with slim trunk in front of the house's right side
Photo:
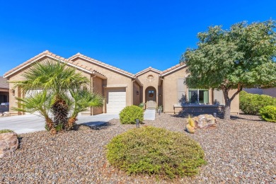
[[[242,88],[276,85],[275,21],[209,27],[197,38],[197,49],[186,50],[180,61],[188,65],[186,82],[189,88],[222,90],[224,119],[230,119],[231,101]]]

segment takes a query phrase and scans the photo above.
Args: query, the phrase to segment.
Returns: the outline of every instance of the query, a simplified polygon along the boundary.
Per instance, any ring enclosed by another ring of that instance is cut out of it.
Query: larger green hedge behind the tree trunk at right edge
[[[267,95],[251,94],[241,91],[240,109],[245,114],[256,115],[267,105],[276,105],[276,98]]]

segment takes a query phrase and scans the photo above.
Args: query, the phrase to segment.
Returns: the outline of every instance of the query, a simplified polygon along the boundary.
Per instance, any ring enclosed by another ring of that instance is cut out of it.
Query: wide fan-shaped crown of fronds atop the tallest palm
[[[23,93],[36,89],[52,89],[56,93],[62,93],[68,88],[80,88],[89,84],[89,80],[76,72],[76,69],[52,59],[33,64],[23,73],[23,77],[23,81],[11,81],[15,87],[22,88]]]

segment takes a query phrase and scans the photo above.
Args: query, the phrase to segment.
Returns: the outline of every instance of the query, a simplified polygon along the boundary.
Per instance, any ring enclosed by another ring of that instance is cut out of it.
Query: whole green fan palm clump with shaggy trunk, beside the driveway
[[[45,117],[47,130],[71,130],[76,117],[88,107],[103,106],[103,96],[88,90],[90,81],[59,61],[48,59],[34,64],[23,74],[24,81],[13,81],[15,87],[24,94],[35,92],[34,96],[17,98],[18,107],[14,110],[34,113]],[[53,120],[50,118],[52,114]]]

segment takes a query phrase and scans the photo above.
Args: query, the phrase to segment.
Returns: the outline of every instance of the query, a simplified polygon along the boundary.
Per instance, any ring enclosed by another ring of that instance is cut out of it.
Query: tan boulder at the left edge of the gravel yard
[[[0,134],[0,158],[11,156],[18,149],[18,139],[15,132]]]

